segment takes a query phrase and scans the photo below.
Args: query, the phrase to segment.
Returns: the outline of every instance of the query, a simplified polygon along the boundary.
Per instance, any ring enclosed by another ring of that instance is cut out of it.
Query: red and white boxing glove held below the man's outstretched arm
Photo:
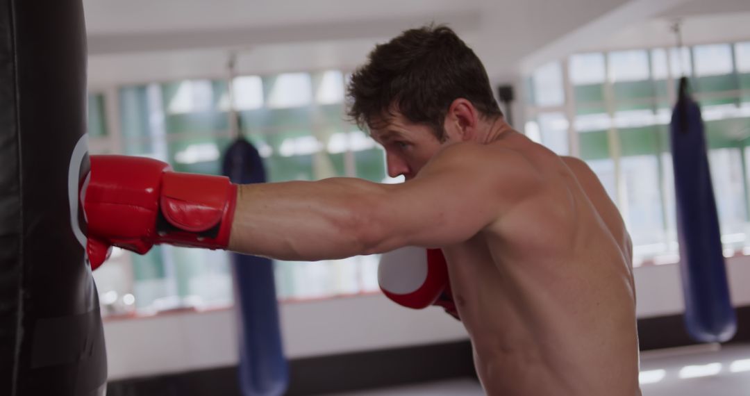
[[[438,305],[459,319],[448,266],[440,249],[407,246],[383,254],[378,266],[378,284],[399,305],[415,309]]]

